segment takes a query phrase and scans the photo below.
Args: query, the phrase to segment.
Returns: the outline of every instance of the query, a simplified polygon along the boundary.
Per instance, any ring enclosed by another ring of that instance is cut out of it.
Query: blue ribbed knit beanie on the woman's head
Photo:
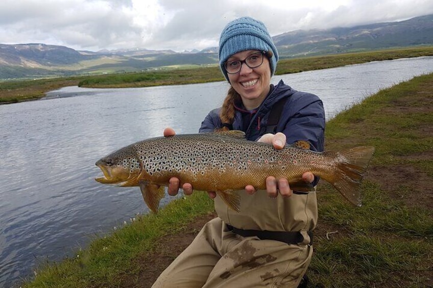
[[[273,56],[269,59],[271,64],[271,76],[277,68],[278,51],[272,41],[266,26],[259,20],[251,17],[241,17],[226,25],[220,36],[220,68],[228,81],[224,63],[234,54],[245,50],[272,50]]]

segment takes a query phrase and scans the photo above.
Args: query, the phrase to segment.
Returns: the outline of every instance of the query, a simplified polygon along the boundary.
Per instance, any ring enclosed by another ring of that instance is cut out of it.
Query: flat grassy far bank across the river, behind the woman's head
[[[281,59],[276,74],[295,73],[307,70],[339,67],[371,61],[392,60],[432,56],[433,46],[377,50],[363,53],[339,54],[321,57]],[[164,69],[141,73],[118,73],[96,76],[76,76],[67,78],[46,78],[39,80],[0,82],[0,104],[41,98],[46,92],[65,86],[94,88],[125,88],[159,85],[179,85],[223,81],[217,65],[206,68]]]

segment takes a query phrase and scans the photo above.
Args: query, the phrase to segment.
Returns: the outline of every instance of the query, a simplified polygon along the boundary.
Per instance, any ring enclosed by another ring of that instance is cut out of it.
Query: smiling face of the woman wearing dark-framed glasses
[[[257,50],[241,51],[234,54],[227,61],[245,60],[250,55],[258,52]],[[242,63],[240,71],[235,74],[228,74],[228,77],[231,86],[242,98],[245,108],[248,110],[257,108],[270,90],[271,67],[269,66],[269,59],[263,56],[263,63],[256,68],[250,68],[245,63]]]

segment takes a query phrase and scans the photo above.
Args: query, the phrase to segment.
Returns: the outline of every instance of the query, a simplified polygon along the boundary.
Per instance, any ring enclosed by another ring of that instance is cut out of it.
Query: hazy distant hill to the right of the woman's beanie
[[[433,15],[351,28],[297,30],[273,37],[282,57],[433,44]]]

